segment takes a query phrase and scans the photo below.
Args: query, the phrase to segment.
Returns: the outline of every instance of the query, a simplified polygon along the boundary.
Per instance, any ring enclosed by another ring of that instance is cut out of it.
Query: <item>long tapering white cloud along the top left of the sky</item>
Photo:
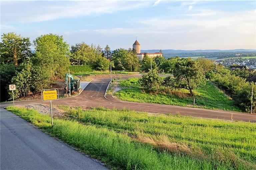
[[[15,3],[3,1],[1,3],[2,23],[49,21],[59,18],[134,10],[152,5],[152,1],[23,1]]]

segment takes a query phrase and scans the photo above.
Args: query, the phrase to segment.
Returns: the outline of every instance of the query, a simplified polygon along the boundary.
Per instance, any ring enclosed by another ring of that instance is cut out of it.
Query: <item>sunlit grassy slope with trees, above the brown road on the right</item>
[[[194,98],[189,97],[189,91],[181,89],[168,93],[146,93],[138,84],[138,78],[129,78],[121,80],[120,86],[122,90],[114,93],[120,100],[143,103],[156,103],[176,106],[198,107],[206,109],[220,109],[227,111],[241,110],[234,105],[234,102],[217,87],[213,86],[209,81],[204,87],[195,89],[195,105]]]

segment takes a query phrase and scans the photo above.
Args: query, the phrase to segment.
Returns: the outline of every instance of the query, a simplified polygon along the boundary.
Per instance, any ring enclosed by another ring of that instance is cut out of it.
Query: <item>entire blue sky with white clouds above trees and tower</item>
[[[1,1],[1,35],[111,49],[256,49],[256,1]],[[33,49],[33,47],[32,47]]]

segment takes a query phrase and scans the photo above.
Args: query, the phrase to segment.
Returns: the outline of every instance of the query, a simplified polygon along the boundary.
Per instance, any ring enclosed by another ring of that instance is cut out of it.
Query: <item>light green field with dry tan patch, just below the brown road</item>
[[[256,163],[256,124],[108,109],[65,109],[85,125],[108,128],[160,150],[221,161],[235,168]],[[256,167],[255,167],[256,168]]]

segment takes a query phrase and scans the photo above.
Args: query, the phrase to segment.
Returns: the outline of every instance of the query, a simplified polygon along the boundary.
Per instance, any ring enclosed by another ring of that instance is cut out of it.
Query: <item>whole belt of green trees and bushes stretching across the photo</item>
[[[30,49],[32,45],[35,52]],[[70,65],[90,65],[94,70],[103,71],[109,70],[111,63],[113,70],[150,72],[153,77],[153,73],[163,70],[164,73],[172,73],[174,79],[165,79],[164,86],[188,89],[192,96],[193,89],[208,79],[225,89],[234,100],[241,99],[238,101],[243,101],[240,104],[243,110],[248,111],[247,105],[250,103],[249,94],[253,84],[249,82],[249,77],[252,74],[246,70],[231,72],[208,59],[194,61],[180,57],[149,58],[145,53],[140,61],[136,50],[131,48],[111,51],[109,45],[106,45],[103,50],[100,45],[88,45],[85,42],[70,46],[62,36],[54,34],[41,35],[30,42],[29,38],[7,33],[1,36],[0,47],[1,101],[8,100],[11,96],[8,91],[9,84],[16,84],[14,95],[19,98],[50,88],[56,80],[64,77]],[[160,79],[152,80],[151,88],[157,90],[155,86],[161,84]],[[145,88],[150,90],[150,87]]]

